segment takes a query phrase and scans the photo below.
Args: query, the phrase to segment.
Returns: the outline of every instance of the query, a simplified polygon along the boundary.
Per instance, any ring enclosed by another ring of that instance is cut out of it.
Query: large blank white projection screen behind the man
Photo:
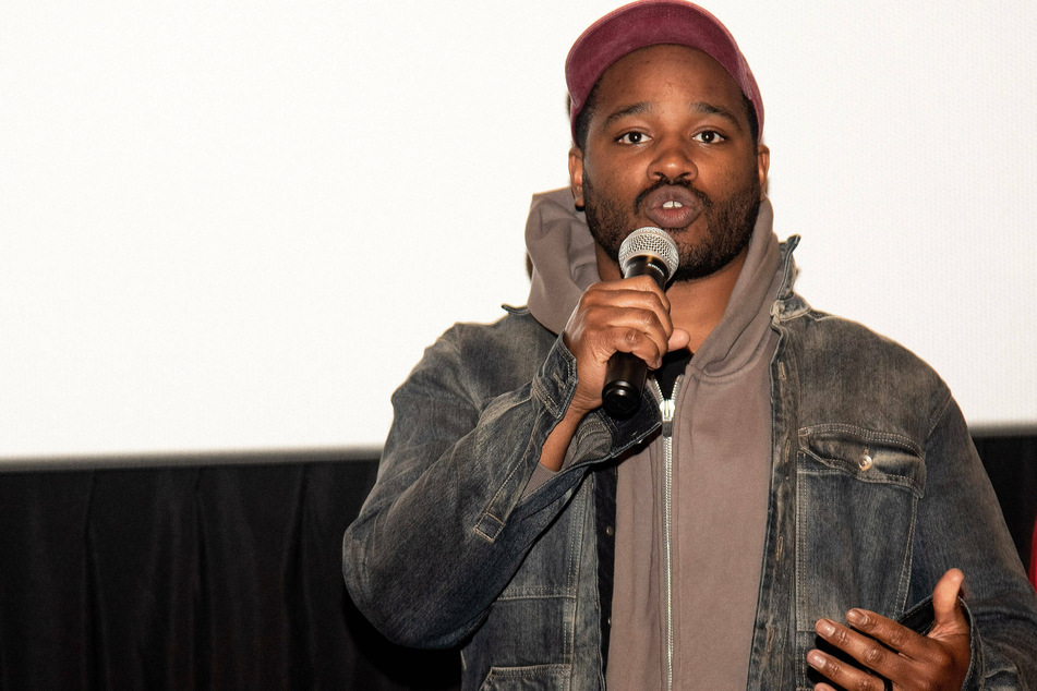
[[[565,54],[614,7],[0,4],[0,468],[376,449],[426,344],[524,303]],[[1037,5],[708,7],[800,292],[930,362],[975,432],[1037,428]]]

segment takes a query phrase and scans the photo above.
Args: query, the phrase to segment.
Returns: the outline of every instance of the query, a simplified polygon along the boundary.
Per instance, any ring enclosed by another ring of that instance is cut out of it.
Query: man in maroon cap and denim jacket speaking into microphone
[[[534,197],[529,306],[455,326],[394,396],[343,544],[360,609],[463,646],[471,689],[1037,684],[1034,592],[946,387],[792,290],[726,28],[627,5],[566,77],[571,190]],[[644,226],[678,247],[665,292],[620,275]],[[614,419],[620,351],[654,374]]]

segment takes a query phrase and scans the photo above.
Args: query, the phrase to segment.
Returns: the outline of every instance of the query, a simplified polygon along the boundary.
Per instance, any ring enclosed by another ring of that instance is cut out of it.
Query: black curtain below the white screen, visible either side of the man
[[[1028,563],[1037,437],[977,446]],[[218,460],[0,474],[0,689],[458,687],[342,584],[376,459]]]

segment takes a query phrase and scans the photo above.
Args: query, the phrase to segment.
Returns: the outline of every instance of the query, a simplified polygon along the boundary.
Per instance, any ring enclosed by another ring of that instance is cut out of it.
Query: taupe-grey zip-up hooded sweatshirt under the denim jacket
[[[618,466],[610,689],[746,688],[777,342],[772,219],[764,201],[724,316],[674,388],[672,439],[654,437]],[[583,290],[600,280],[593,239],[568,190],[533,197],[526,242],[529,310],[559,334]],[[541,468],[531,486],[547,474]]]

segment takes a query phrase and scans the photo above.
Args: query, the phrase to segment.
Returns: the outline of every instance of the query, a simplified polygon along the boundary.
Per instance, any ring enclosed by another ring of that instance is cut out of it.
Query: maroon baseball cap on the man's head
[[[756,109],[763,136],[763,99],[749,63],[727,27],[715,16],[685,0],[641,0],[601,17],[576,39],[565,59],[569,88],[569,123],[576,138],[576,117],[594,84],[619,58],[639,48],[676,44],[701,50],[719,62]]]

